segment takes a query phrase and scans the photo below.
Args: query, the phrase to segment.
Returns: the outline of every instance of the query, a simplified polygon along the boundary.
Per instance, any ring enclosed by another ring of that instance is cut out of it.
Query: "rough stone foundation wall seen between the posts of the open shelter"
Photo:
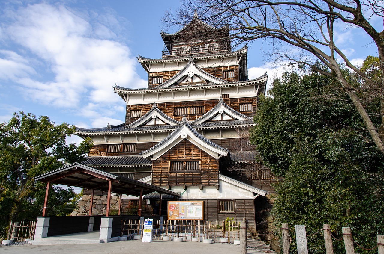
[[[89,206],[91,205],[91,196],[83,195],[78,203],[78,209],[71,213],[73,215],[89,215]],[[105,215],[107,213],[107,195],[94,195],[92,215]],[[110,215],[115,215],[119,210],[119,196],[111,196]]]

